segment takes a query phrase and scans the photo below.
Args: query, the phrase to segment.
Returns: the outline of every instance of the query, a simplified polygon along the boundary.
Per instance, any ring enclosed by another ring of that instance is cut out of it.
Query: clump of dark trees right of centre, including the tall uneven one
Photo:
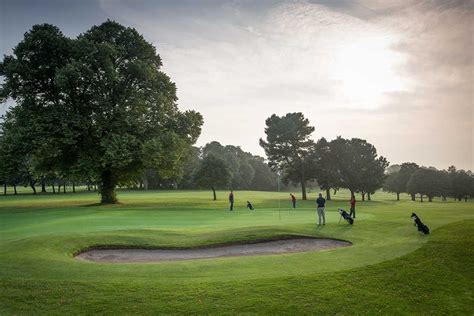
[[[270,167],[281,172],[283,181],[301,185],[306,200],[306,185],[315,180],[331,199],[331,189],[347,188],[361,193],[362,200],[382,187],[388,162],[376,148],[359,138],[311,138],[314,127],[302,113],[272,115],[266,120],[266,139],[260,139]]]

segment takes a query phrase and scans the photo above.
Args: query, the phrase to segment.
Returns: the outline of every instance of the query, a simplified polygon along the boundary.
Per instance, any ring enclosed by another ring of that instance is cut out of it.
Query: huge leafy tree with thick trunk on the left
[[[133,28],[107,21],[77,39],[35,25],[0,63],[3,100],[35,168],[99,179],[102,203],[147,168],[179,172],[202,117],[177,108],[176,87],[155,47]]]

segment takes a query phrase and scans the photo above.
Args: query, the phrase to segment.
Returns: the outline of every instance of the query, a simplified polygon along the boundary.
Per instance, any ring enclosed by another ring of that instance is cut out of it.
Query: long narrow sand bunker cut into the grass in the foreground
[[[144,263],[309,252],[350,245],[352,243],[348,241],[335,239],[292,238],[191,249],[95,249],[82,252],[76,258],[95,262]]]

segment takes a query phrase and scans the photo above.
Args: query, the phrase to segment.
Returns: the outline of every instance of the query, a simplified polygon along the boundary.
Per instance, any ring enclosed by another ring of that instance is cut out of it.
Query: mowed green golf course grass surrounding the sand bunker
[[[289,208],[288,192],[121,191],[0,197],[0,314],[472,314],[474,203],[411,202],[377,193],[353,226],[328,202],[316,226],[315,192]],[[256,207],[245,209],[247,200]],[[280,206],[280,207],[279,207]],[[415,211],[432,234],[420,235]],[[155,264],[74,259],[94,246],[191,247],[284,235],[353,246],[314,253]]]

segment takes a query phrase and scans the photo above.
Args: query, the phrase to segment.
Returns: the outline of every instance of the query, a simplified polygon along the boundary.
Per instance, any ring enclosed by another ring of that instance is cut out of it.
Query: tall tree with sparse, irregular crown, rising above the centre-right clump
[[[314,127],[302,113],[285,116],[273,114],[266,121],[266,140],[260,139],[269,166],[283,171],[283,180],[301,184],[302,199],[306,200],[306,182],[313,177],[314,142],[310,139]]]

